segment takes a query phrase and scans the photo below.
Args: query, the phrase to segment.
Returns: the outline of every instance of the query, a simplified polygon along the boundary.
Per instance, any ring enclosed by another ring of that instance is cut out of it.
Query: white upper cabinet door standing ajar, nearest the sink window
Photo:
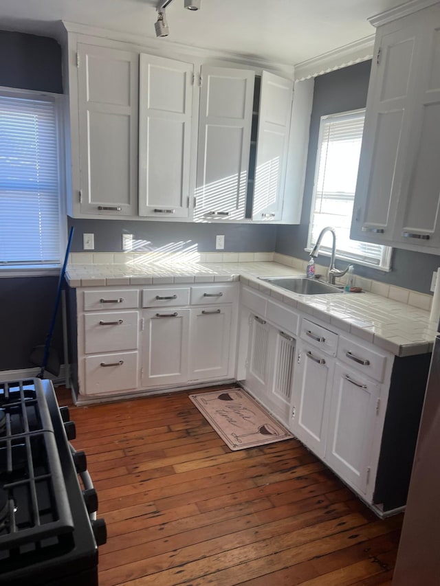
[[[252,220],[281,219],[294,82],[263,71]]]

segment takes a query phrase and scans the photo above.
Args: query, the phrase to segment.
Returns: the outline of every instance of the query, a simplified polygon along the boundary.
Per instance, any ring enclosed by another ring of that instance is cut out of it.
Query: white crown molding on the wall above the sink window
[[[295,65],[295,80],[305,80],[336,71],[342,67],[355,65],[373,57],[375,35],[366,36],[359,41],[333,49]]]

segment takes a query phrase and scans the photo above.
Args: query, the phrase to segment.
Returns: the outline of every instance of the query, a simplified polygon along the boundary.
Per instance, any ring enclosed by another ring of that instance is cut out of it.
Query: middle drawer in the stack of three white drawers
[[[138,311],[87,313],[84,316],[85,354],[134,350],[138,324]]]

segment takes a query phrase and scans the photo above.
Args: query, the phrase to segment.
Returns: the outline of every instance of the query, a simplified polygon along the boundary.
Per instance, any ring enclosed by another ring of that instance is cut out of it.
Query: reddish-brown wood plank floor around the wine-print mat
[[[297,440],[232,452],[188,393],[71,411],[100,586],[391,585],[402,515],[377,519]]]

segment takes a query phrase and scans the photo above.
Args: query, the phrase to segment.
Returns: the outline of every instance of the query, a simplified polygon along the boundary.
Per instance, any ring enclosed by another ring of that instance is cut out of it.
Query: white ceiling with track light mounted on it
[[[166,9],[170,36],[155,38],[156,0],[1,0],[0,28],[51,34],[56,21],[296,65],[374,34],[369,16],[402,0],[201,0]]]

